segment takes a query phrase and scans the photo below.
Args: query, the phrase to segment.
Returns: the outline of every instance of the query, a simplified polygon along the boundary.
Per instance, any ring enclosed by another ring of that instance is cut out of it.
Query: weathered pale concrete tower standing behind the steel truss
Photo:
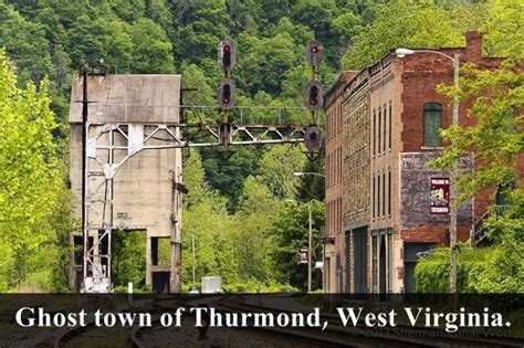
[[[157,124],[176,123],[179,119],[179,75],[107,75],[88,77],[88,120],[90,137],[102,129],[97,124]],[[72,190],[77,200],[74,204],[75,217],[81,219],[82,192],[82,107],[76,101],[82,99],[82,78],[74,78],[71,96],[71,144],[70,177]],[[153,129],[153,128],[151,128]],[[145,134],[151,131],[145,128]],[[174,131],[178,131],[176,128]],[[158,137],[163,137],[161,134]],[[102,136],[97,145],[106,145]],[[124,136],[116,135],[115,144],[126,146]],[[107,152],[107,151],[105,151]],[[99,150],[97,157],[105,160],[106,154]],[[115,150],[116,161],[127,155],[126,150]],[[175,265],[154,265],[151,262],[151,238],[169,238],[181,242],[181,198],[174,190],[174,180],[181,182],[181,150],[161,149],[144,150],[129,158],[118,169],[114,179],[114,228],[119,230],[142,230],[147,235],[146,262],[144,275],[146,284],[151,285],[153,272],[172,272]],[[90,170],[101,168],[90,160]],[[90,191],[101,183],[99,177],[91,177]],[[103,199],[104,192],[95,198]],[[94,204],[94,209],[99,207]],[[99,218],[90,212],[90,222],[96,224]],[[80,231],[73,232],[81,234]],[[171,255],[172,259],[174,255]],[[177,260],[177,257],[175,257]],[[178,255],[179,260],[179,255]],[[74,284],[74,272],[71,277]]]

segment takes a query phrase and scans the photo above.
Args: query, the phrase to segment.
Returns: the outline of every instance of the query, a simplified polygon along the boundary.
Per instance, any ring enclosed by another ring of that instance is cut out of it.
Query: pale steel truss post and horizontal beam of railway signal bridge
[[[316,126],[232,124],[86,123],[85,219],[83,226],[83,292],[108,293],[114,178],[133,156],[145,150],[185,147],[304,143],[306,130]],[[201,140],[185,140],[182,131]]]

